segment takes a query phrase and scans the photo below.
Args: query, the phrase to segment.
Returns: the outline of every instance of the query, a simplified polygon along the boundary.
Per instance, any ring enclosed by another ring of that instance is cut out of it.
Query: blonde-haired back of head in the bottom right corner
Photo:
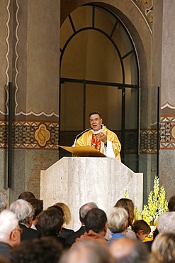
[[[152,243],[150,263],[175,262],[175,233],[162,233]]]

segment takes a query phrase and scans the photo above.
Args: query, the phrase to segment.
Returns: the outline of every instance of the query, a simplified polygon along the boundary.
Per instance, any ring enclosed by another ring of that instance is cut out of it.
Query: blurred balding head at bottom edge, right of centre
[[[147,263],[149,252],[145,245],[130,238],[114,240],[109,245],[109,251],[116,263]]]

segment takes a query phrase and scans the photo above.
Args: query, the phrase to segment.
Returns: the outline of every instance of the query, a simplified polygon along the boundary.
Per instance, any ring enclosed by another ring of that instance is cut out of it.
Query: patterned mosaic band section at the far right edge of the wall
[[[175,117],[160,119],[160,149],[175,149]]]

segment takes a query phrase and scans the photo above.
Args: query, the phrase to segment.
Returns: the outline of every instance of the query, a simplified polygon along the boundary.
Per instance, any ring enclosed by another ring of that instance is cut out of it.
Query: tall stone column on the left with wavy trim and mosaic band
[[[7,0],[0,9],[1,119],[8,119],[6,85],[13,82],[11,202],[24,190],[39,197],[40,170],[58,159],[60,1]]]

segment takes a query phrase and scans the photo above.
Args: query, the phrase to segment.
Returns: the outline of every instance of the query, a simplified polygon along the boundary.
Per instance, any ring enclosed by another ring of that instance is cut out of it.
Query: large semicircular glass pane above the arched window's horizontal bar
[[[67,45],[61,76],[119,83],[123,80],[115,47],[106,36],[93,30],[82,31]]]

